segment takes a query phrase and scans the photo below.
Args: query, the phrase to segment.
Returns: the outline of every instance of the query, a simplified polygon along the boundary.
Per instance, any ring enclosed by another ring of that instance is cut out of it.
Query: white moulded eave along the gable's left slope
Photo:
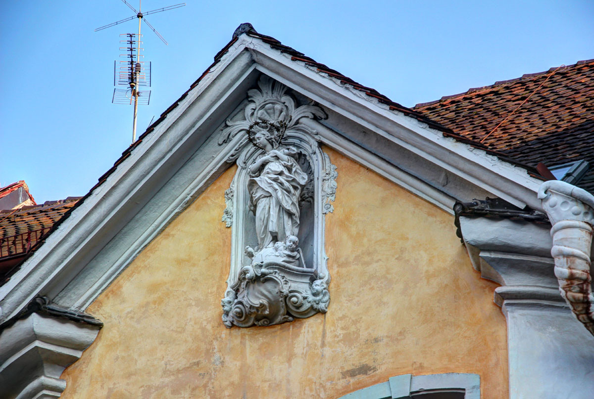
[[[0,325],[39,294],[52,299],[67,294],[63,304],[86,308],[185,209],[188,201],[229,166],[224,153],[210,154],[207,162],[194,162],[201,163],[200,170],[195,170],[197,176],[185,179],[181,185],[172,181],[182,164],[192,157],[196,159],[195,148],[208,140],[216,121],[227,116],[225,110],[234,109],[254,84],[257,72],[243,44],[236,41],[230,46],[200,83],[178,100],[175,109],[170,107],[150,134],[141,135],[132,151],[124,151],[125,156],[99,179],[78,207],[46,238],[44,245],[0,286]],[[177,201],[170,198],[166,207],[151,206],[151,198],[166,184],[171,190],[181,190],[175,195]],[[146,230],[125,237],[122,244],[128,248],[124,250],[120,245],[121,253],[103,259],[110,267],[90,270],[93,259],[113,243],[117,233],[128,224],[137,223]],[[67,286],[70,287],[65,293]]]

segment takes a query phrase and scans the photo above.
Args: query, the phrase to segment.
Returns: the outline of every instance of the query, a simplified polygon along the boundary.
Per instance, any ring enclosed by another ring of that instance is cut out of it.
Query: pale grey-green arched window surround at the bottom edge
[[[480,399],[478,374],[403,374],[338,399]]]

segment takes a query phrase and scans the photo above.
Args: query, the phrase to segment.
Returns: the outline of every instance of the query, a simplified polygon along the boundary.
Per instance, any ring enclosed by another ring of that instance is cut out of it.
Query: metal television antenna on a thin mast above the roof
[[[138,18],[138,33],[125,33],[121,34],[120,36],[125,36],[126,40],[121,40],[120,43],[125,44],[125,47],[120,47],[120,50],[124,50],[125,53],[121,54],[120,56],[124,56],[127,58],[125,61],[119,62],[119,70],[117,68],[118,62],[116,61],[114,64],[114,71],[113,71],[113,83],[114,85],[128,85],[128,90],[113,89],[113,98],[112,103],[114,104],[125,104],[128,103],[129,105],[132,104],[132,100],[134,100],[134,121],[132,125],[132,143],[136,141],[136,117],[138,114],[138,104],[139,102],[141,105],[148,105],[150,100],[150,90],[140,91],[138,87],[141,85],[150,86],[150,75],[151,75],[151,65],[150,62],[140,61],[142,55],[140,55],[140,51],[143,50],[140,47],[142,43],[140,41],[142,35],[140,34],[140,21],[144,21],[147,26],[165,43],[168,45],[167,40],[156,29],[146,20],[146,15],[149,14],[156,14],[157,12],[162,11],[169,11],[170,9],[184,7],[185,3],[170,5],[169,7],[157,8],[151,11],[142,12],[142,0],[138,0],[138,11],[134,7],[132,7],[126,0],[122,0],[125,5],[127,5],[132,11],[136,13],[136,15],[132,15],[132,17],[124,18],[123,20],[116,21],[111,24],[107,24],[105,26],[99,27],[95,29],[95,31],[103,30],[112,26],[116,26],[118,24],[131,21],[134,18]],[[136,53],[134,53],[134,50]]]

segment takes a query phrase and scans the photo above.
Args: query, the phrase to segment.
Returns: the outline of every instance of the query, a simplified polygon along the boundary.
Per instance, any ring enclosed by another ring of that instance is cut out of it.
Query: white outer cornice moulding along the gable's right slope
[[[527,204],[541,208],[535,194],[542,181],[530,177],[525,169],[453,138],[443,137],[440,131],[394,112],[377,99],[366,97],[361,91],[349,88],[348,84],[340,84],[336,78],[308,68],[304,62],[292,61],[289,55],[280,54],[256,40],[251,43],[252,56],[263,73],[516,206],[522,208]],[[295,68],[295,64],[301,65]],[[320,90],[320,86],[326,90]]]

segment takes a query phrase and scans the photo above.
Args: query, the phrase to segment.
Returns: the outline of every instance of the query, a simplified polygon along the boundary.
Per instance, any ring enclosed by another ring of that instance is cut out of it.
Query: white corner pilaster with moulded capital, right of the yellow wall
[[[473,267],[501,286],[507,319],[510,398],[589,397],[594,337],[571,315],[551,258],[550,225],[460,216]]]

